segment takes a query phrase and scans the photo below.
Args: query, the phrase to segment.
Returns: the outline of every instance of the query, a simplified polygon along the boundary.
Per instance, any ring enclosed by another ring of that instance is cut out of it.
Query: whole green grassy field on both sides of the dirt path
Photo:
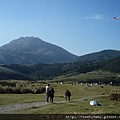
[[[46,84],[42,84],[43,87]],[[116,88],[120,90],[119,86],[104,86],[100,85],[84,89],[85,84],[51,84],[55,89],[54,103],[48,103],[39,107],[31,107],[22,110],[15,110],[4,112],[5,114],[119,114],[120,101],[110,100],[108,97],[111,90]],[[64,91],[69,89],[72,93],[71,101],[59,103],[58,101],[65,101]],[[101,95],[98,97],[98,95]],[[104,95],[104,96],[103,96]],[[106,96],[105,96],[106,95]],[[33,102],[44,102],[45,93],[43,94],[0,94],[0,107],[14,104],[24,104]],[[82,101],[75,101],[80,98],[89,97]],[[91,100],[97,100],[102,106],[90,106]]]

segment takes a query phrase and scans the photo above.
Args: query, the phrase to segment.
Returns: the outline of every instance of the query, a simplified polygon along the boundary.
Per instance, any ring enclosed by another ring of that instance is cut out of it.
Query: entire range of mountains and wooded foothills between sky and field
[[[0,47],[0,63],[0,80],[113,81],[117,85],[120,81],[120,51],[78,57],[37,37],[21,37]]]

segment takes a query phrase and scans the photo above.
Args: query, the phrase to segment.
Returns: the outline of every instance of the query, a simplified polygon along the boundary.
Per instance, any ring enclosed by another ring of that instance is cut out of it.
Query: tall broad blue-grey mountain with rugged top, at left
[[[78,56],[37,37],[20,37],[0,47],[2,64],[66,63]]]

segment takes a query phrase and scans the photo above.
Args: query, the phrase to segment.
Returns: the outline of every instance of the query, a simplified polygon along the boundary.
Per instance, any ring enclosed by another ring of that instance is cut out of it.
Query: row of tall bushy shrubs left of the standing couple
[[[34,82],[0,81],[0,94],[41,94],[44,92],[45,87],[36,85]]]

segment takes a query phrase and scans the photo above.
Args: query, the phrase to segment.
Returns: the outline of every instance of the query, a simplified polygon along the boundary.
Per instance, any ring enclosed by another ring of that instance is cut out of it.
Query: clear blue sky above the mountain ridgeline
[[[0,46],[34,36],[82,56],[120,50],[120,0],[0,0]]]

